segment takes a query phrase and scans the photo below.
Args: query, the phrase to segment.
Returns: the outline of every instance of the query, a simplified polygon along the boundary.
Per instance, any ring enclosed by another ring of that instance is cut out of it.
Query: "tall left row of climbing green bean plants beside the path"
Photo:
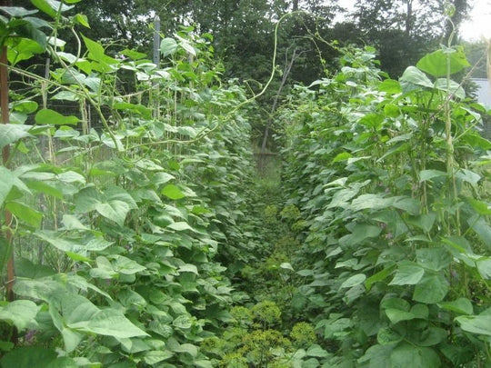
[[[246,237],[246,95],[221,80],[210,35],[164,35],[155,65],[85,37],[76,2],[0,8],[0,270],[15,283],[0,363],[212,367],[199,344],[232,302],[218,260]],[[46,58],[46,74],[25,66]]]

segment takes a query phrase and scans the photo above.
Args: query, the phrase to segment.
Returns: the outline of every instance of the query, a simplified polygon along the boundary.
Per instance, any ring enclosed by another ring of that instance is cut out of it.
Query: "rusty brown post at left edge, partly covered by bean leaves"
[[[11,6],[10,0],[0,0],[0,6]],[[2,124],[9,123],[8,114],[8,73],[7,73],[7,47],[2,45],[2,50],[0,54],[0,109],[2,110]],[[2,149],[2,164],[7,164],[10,157],[9,145],[5,145]],[[14,300],[14,281],[15,281],[15,270],[14,270],[14,252],[12,250],[12,233],[9,230],[9,226],[12,223],[12,214],[5,210],[5,244],[7,244],[10,254],[7,263],[7,279],[6,279],[6,293],[7,299],[9,301]]]

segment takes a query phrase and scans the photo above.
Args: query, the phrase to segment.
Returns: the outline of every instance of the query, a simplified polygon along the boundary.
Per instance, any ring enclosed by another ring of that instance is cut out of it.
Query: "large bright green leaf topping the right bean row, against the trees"
[[[433,76],[446,76],[447,65],[450,66],[450,74],[458,73],[467,66],[470,66],[462,49],[453,50],[455,51],[453,53],[446,51],[436,50],[431,54],[427,54],[417,62],[416,66],[428,75]]]

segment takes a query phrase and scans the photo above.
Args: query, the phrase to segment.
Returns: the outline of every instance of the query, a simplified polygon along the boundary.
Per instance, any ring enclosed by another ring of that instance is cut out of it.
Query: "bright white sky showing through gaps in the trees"
[[[356,0],[339,0],[339,5],[353,9]],[[461,25],[460,35],[466,41],[491,38],[491,0],[469,0],[473,5],[470,18]]]

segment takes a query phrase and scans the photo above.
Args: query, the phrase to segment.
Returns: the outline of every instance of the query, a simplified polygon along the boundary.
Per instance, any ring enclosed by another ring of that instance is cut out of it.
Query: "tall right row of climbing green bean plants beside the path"
[[[286,204],[306,228],[292,308],[316,324],[324,366],[491,362],[486,109],[442,46],[399,80],[375,50],[346,48],[338,73],[298,86],[280,118]]]

